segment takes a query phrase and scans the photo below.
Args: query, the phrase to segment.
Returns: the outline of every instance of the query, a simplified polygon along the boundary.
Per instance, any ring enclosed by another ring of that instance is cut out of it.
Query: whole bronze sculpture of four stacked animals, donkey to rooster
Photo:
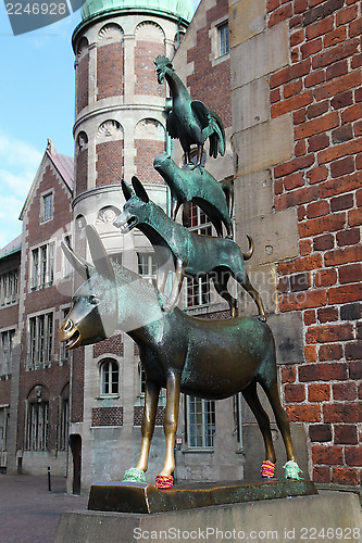
[[[146,374],[141,449],[137,467],[126,471],[126,481],[145,481],[161,388],[166,389],[163,422],[166,455],[163,469],[157,477],[157,488],[170,489],[173,484],[182,392],[210,400],[242,392],[264,440],[265,460],[261,475],[272,478],[276,457],[270,420],[258,397],[258,384],[266,393],[283,435],[287,454],[286,477],[298,479],[300,469],[292,449],[289,420],[278,395],[274,338],[266,325],[262,299],[251,286],[245,269],[245,261],[253,253],[253,241],[247,236],[249,251],[244,254],[230,240],[232,188],[223,189],[201,166],[203,143],[208,138],[210,155],[216,157],[217,153],[224,154],[223,124],[202,102],[191,100],[168,59],[158,56],[154,62],[159,83],[166,78],[171,89],[173,108],[166,128],[172,138],[179,139],[186,166],[177,167],[165,154],[154,160],[155,169],[172,191],[172,218],[149,199],[137,177],[133,177],[134,190],[122,181],[126,203],[114,225],[122,233],[137,227],[153,245],[159,264],[157,289],[137,274],[111,263],[97,231],[87,226],[95,265],[63,244],[66,257],[85,283],[75,293],[72,310],[60,325],[60,339],[65,342],[66,349],[75,349],[110,337],[120,324],[139,348]],[[196,166],[189,165],[191,144],[198,148]],[[220,237],[199,236],[175,222],[177,211],[184,203],[184,224],[187,224],[190,202],[209,214]],[[228,239],[222,238],[223,224]],[[170,262],[176,273],[171,294],[166,296],[166,265]],[[214,273],[216,292],[229,304],[229,319],[198,319],[176,307],[184,277],[199,277],[210,272]],[[258,317],[237,317],[237,300],[227,290],[230,277],[252,296],[258,306]]]

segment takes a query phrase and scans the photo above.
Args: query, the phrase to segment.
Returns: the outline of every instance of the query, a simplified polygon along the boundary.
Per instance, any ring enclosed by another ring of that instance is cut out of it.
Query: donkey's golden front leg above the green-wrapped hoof
[[[158,387],[152,382],[146,382],[145,411],[141,425],[142,441],[141,441],[139,460],[137,464],[137,469],[141,469],[142,471],[147,471],[148,468],[148,457],[150,454],[150,446],[154,431],[154,421],[159,402],[159,394],[160,394],[160,387]]]

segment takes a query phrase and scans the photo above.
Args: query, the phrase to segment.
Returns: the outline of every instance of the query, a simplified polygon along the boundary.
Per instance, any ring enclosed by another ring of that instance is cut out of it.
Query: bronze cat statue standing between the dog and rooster
[[[183,168],[167,153],[159,154],[153,167],[170,187],[171,218],[176,220],[177,212],[184,204],[183,225],[189,225],[189,203],[195,202],[209,217],[217,236],[223,236],[223,226],[227,236],[233,238],[233,225],[225,192],[216,179],[202,166],[194,168],[186,164]]]

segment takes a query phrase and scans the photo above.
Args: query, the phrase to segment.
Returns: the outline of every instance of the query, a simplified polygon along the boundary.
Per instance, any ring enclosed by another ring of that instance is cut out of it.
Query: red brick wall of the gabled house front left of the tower
[[[41,194],[48,190],[53,192],[53,218],[47,223],[41,223]],[[71,224],[72,194],[66,188],[64,181],[54,173],[52,166],[47,165],[42,177],[33,194],[33,198],[26,210],[24,217],[25,229],[23,231],[23,245],[27,258],[22,263],[25,266],[25,282],[22,285],[25,294],[24,306],[20,307],[23,313],[24,331],[22,337],[22,359],[20,377],[20,414],[18,414],[18,437],[17,446],[22,449],[24,437],[24,406],[30,390],[36,384],[43,386],[49,391],[50,402],[50,449],[57,446],[57,426],[58,426],[58,402],[64,386],[70,380],[68,365],[60,366],[55,354],[59,354],[60,344],[58,340],[59,320],[53,321],[53,353],[51,367],[37,370],[27,370],[27,315],[36,312],[59,312],[60,305],[68,304],[70,296],[63,295],[57,286],[47,287],[41,290],[29,292],[29,273],[30,273],[30,250],[34,245],[46,243],[50,239],[57,240],[55,249],[55,270],[61,270],[62,255],[59,248],[60,240],[65,233],[64,226]],[[23,253],[24,254],[24,253]]]

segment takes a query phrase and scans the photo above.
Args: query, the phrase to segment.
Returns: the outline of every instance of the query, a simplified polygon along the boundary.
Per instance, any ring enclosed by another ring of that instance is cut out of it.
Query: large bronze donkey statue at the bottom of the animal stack
[[[174,444],[180,393],[220,400],[242,392],[254,414],[265,445],[262,476],[273,477],[276,462],[270,420],[262,408],[259,383],[273,408],[285,443],[286,477],[298,477],[287,414],[282,407],[272,332],[258,318],[207,320],[189,317],[175,307],[161,310],[163,294],[137,274],[111,263],[96,229],[87,226],[93,264],[63,244],[71,264],[85,279],[75,292],[73,306],[60,325],[60,340],[66,349],[96,343],[116,326],[137,343],[146,374],[141,447],[136,468],[126,480],[145,482],[161,388],[166,389],[164,433],[166,455],[157,488],[172,488],[175,469]]]

